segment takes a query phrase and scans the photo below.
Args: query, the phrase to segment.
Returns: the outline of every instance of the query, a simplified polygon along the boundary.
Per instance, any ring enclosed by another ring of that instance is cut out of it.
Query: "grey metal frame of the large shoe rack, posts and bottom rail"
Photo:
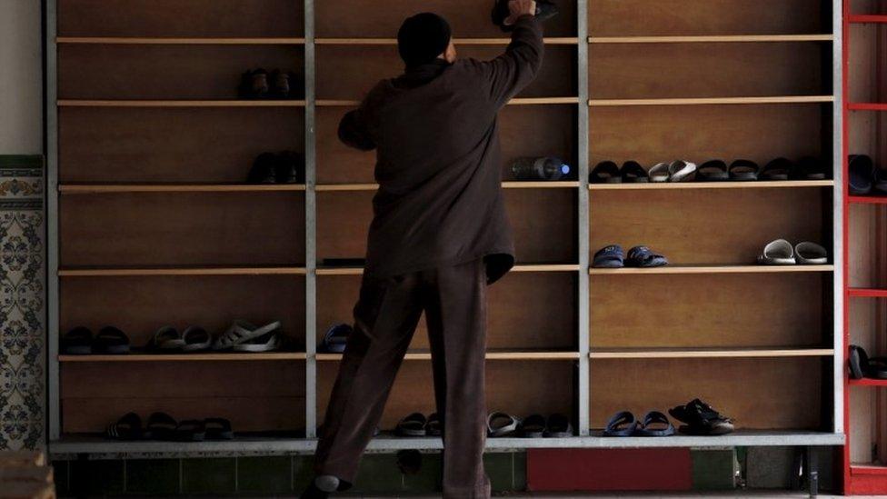
[[[298,0],[294,0],[298,1]],[[305,454],[314,450],[317,436],[317,279],[318,274],[323,274],[323,269],[317,268],[317,193],[323,192],[325,187],[317,185],[317,151],[316,151],[316,110],[319,105],[331,105],[330,102],[319,102],[315,91],[315,47],[324,44],[324,40],[315,39],[314,30],[314,5],[319,0],[304,1],[304,36],[295,41],[298,45],[304,44],[304,101],[296,103],[284,103],[286,105],[298,105],[294,112],[304,105],[304,157],[305,157],[305,184],[304,184],[304,216],[305,216],[305,266],[304,275],[294,278],[303,278],[305,285],[305,437],[304,438],[238,438],[231,442],[205,442],[199,444],[182,444],[172,442],[138,442],[120,443],[107,441],[99,437],[81,437],[78,435],[61,434],[61,408],[60,408],[60,369],[58,360],[59,343],[59,271],[63,270],[59,265],[59,196],[61,195],[58,184],[58,106],[57,98],[57,44],[71,43],[72,40],[56,39],[56,14],[59,0],[46,0],[45,2],[45,107],[46,107],[46,148],[47,148],[47,172],[46,172],[46,206],[47,206],[47,309],[48,309],[48,439],[49,449],[52,454],[133,454],[152,453],[152,457],[162,455],[174,455],[189,452],[200,453],[295,453]],[[834,130],[832,138],[832,162],[834,168],[833,182],[825,182],[816,186],[824,191],[833,193],[833,245],[834,268],[827,272],[833,275],[833,354],[827,354],[824,358],[832,360],[833,394],[830,404],[832,409],[832,421],[827,429],[822,432],[737,432],[732,435],[717,437],[698,436],[673,436],[669,438],[604,438],[599,432],[593,431],[590,424],[590,408],[593,400],[593,379],[590,377],[590,362],[592,351],[590,338],[593,331],[590,326],[590,286],[597,275],[589,274],[590,261],[590,197],[594,195],[593,189],[588,185],[590,135],[589,120],[595,105],[602,103],[590,101],[589,95],[589,51],[601,40],[589,38],[588,26],[588,0],[576,0],[576,39],[584,43],[577,43],[576,50],[576,86],[577,98],[571,97],[568,102],[559,105],[574,105],[578,124],[577,149],[579,161],[577,165],[579,181],[574,185],[563,186],[565,189],[575,189],[577,196],[577,252],[578,252],[578,285],[577,285],[577,349],[575,358],[558,360],[556,362],[571,362],[576,366],[575,384],[577,398],[574,408],[577,421],[577,436],[557,439],[521,439],[521,438],[496,438],[489,439],[487,448],[490,450],[513,450],[530,447],[675,447],[675,446],[732,446],[732,445],[840,445],[844,441],[843,427],[843,338],[844,320],[842,315],[844,298],[844,273],[842,241],[844,241],[845,214],[842,204],[843,172],[842,157],[844,157],[844,137],[839,133],[843,128],[843,95],[842,95],[842,0],[832,0],[832,34],[816,35],[815,41],[832,45],[832,95],[811,96],[799,98],[803,103],[819,103],[823,106],[832,106],[832,126]],[[618,41],[618,40],[617,40]],[[643,40],[645,43],[670,43],[671,40]],[[700,43],[709,43],[706,40],[698,40]],[[733,42],[733,40],[718,40],[720,42]],[[786,40],[795,41],[795,40]],[[101,40],[99,40],[101,42]],[[185,40],[188,43],[199,43],[200,40]],[[223,40],[224,42],[224,40]],[[277,43],[278,41],[274,41]],[[286,43],[295,43],[287,39]],[[327,41],[328,42],[328,41]],[[745,43],[743,39],[735,40],[735,43]],[[781,40],[773,40],[774,43],[782,43]],[[498,43],[498,42],[497,42]],[[304,104],[303,104],[304,102]],[[71,104],[71,103],[67,103]],[[114,104],[114,103],[112,103]],[[167,103],[177,104],[177,103]],[[192,103],[194,104],[194,103]],[[206,104],[206,103],[196,103]],[[210,103],[213,104],[213,103]],[[229,104],[229,103],[220,103]],[[351,105],[351,103],[345,103]],[[592,105],[590,105],[592,104]],[[606,104],[606,103],[604,103]],[[616,104],[624,104],[622,102]],[[675,102],[674,105],[693,105],[694,102]],[[344,105],[344,104],[343,104]],[[549,104],[538,104],[549,105]],[[723,103],[731,105],[731,103]],[[809,105],[809,104],[803,104]],[[571,269],[572,270],[572,269]],[[301,273],[300,269],[300,273]],[[301,306],[301,304],[299,304]],[[329,361],[324,361],[329,362]],[[825,381],[829,383],[828,380]],[[823,398],[823,404],[829,404],[828,396]],[[394,449],[425,449],[434,450],[442,447],[439,439],[422,438],[394,438],[383,436],[374,439],[370,444],[371,451],[386,451]]]

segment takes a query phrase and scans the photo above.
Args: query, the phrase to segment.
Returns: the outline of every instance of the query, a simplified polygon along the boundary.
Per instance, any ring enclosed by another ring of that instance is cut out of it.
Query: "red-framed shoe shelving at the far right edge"
[[[844,168],[848,155],[870,155],[876,165],[887,161],[884,111],[887,95],[887,3],[844,3]],[[846,349],[862,346],[870,355],[887,348],[887,197],[844,192],[844,336]],[[887,382],[850,379],[844,374],[844,494],[887,494]]]

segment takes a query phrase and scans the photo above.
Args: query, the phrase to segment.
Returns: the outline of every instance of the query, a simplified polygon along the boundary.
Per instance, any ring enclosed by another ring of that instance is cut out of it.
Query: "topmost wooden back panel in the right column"
[[[593,36],[831,33],[818,0],[589,0]],[[702,69],[702,68],[700,68]]]

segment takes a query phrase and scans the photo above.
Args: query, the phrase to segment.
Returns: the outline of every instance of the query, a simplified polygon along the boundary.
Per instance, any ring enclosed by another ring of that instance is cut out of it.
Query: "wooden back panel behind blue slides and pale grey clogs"
[[[823,244],[826,236],[818,189],[595,191],[591,198],[592,253],[649,245],[672,264],[754,264],[774,239]]]

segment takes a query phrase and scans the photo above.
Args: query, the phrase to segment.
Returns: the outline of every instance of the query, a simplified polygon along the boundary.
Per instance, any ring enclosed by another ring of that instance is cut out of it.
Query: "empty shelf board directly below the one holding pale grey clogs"
[[[832,348],[744,347],[744,348],[599,348],[588,354],[592,359],[691,359],[759,357],[827,357]]]

